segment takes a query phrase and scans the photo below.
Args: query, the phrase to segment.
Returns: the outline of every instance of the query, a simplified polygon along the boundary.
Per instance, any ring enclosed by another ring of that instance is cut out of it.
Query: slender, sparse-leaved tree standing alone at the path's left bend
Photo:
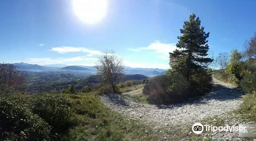
[[[103,82],[112,86],[113,93],[116,93],[116,84],[121,77],[121,73],[125,72],[123,59],[119,58],[115,51],[106,50],[95,64],[97,74],[102,77]]]

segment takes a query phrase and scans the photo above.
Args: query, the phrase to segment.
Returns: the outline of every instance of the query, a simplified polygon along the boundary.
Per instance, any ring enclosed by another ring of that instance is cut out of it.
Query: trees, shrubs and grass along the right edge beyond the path
[[[245,92],[243,104],[236,113],[256,122],[256,32],[250,40],[245,40],[243,51],[233,49],[227,65],[214,70],[214,77],[224,82],[236,84]],[[219,66],[221,67],[221,66]]]

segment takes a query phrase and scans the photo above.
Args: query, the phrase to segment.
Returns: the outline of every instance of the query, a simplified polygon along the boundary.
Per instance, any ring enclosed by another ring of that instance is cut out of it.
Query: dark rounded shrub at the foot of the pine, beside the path
[[[189,83],[183,76],[175,72],[156,76],[145,84],[143,94],[149,95],[150,103],[170,104],[188,98]]]

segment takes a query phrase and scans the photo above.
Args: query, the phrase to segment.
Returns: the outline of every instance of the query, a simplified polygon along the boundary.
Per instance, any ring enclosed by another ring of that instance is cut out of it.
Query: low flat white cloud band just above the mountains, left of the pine
[[[161,63],[142,63],[142,62],[131,62],[124,60],[123,61],[125,66],[129,66],[132,68],[158,68],[158,69],[168,69],[170,66],[169,64],[161,64]]]

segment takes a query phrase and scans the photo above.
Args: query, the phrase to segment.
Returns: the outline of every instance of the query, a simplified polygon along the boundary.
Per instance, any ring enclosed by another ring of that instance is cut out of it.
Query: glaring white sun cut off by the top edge
[[[73,0],[77,17],[87,24],[100,22],[107,13],[107,0]]]

